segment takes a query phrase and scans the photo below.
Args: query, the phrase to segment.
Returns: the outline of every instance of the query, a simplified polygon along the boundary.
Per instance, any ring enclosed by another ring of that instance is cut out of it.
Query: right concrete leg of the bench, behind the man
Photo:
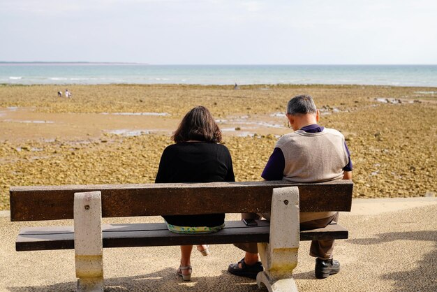
[[[270,217],[270,242],[258,243],[265,271],[256,277],[258,287],[269,291],[297,291],[292,270],[299,249],[299,190],[297,187],[273,189]]]

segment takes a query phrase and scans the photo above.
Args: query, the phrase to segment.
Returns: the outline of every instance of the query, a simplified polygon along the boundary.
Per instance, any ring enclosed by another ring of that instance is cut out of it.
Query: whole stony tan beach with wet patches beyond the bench
[[[320,124],[350,149],[354,196],[435,196],[437,89],[341,85],[0,85],[0,210],[10,186],[154,182],[183,115],[205,105],[223,131],[236,180],[260,180],[287,101],[311,94]],[[400,101],[400,102],[399,102]]]

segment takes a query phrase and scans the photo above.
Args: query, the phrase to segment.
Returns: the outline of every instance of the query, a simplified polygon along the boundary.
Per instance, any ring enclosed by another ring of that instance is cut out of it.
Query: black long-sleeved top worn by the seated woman
[[[225,145],[184,142],[164,149],[156,183],[161,182],[235,182],[232,159]],[[163,216],[175,226],[221,226],[225,214]]]

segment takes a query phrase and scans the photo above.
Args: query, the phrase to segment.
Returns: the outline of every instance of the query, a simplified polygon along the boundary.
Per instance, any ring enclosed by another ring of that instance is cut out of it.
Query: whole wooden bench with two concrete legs
[[[75,249],[77,291],[103,291],[103,247],[259,242],[265,272],[258,286],[292,291],[299,240],[346,239],[339,224],[299,232],[300,212],[350,211],[350,180],[315,184],[213,182],[11,187],[11,221],[74,219],[74,226],[22,228],[17,251]],[[217,233],[171,233],[162,224],[101,224],[102,217],[272,212],[246,226],[226,221]],[[223,263],[225,265],[227,263]]]

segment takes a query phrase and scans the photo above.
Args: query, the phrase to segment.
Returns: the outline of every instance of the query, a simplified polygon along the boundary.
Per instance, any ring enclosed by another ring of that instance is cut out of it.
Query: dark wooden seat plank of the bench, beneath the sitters
[[[326,228],[302,231],[300,240],[348,238],[348,231],[338,224]],[[105,224],[103,247],[154,247],[184,244],[230,244],[237,242],[268,242],[269,222],[258,221],[258,226],[246,226],[242,221],[226,221],[217,233],[185,235],[168,231],[163,223]],[[15,242],[17,251],[74,249],[73,226],[23,228]]]

